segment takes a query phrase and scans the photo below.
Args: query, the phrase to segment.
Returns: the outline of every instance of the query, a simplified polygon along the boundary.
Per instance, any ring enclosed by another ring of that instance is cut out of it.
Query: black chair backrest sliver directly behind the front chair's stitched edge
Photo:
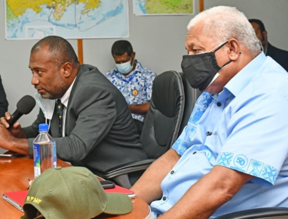
[[[196,100],[202,93],[199,89],[192,88],[189,82],[187,81],[187,79],[184,77],[183,73],[180,73],[180,74],[182,75],[182,82],[183,82],[183,87],[184,87],[185,105],[184,105],[182,121],[180,124],[179,135],[182,133],[184,127],[187,125],[188,120],[191,116],[192,110],[194,108],[194,105],[196,103]]]

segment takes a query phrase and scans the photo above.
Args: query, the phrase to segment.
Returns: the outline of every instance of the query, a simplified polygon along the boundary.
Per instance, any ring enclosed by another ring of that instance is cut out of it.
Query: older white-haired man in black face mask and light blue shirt
[[[288,75],[234,7],[188,24],[182,70],[204,90],[184,131],[131,188],[153,217],[288,206]]]

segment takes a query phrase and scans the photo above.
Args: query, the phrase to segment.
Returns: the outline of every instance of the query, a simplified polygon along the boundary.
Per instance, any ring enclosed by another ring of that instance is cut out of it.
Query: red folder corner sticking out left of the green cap
[[[23,205],[25,198],[27,196],[28,190],[17,191],[17,192],[5,192],[2,197],[4,200],[8,201],[11,205],[23,211]]]

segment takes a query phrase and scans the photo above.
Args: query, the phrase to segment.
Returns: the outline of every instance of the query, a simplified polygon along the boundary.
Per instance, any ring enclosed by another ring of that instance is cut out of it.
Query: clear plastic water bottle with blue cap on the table
[[[56,168],[56,143],[48,133],[48,124],[39,124],[39,135],[33,141],[34,177],[49,168]]]

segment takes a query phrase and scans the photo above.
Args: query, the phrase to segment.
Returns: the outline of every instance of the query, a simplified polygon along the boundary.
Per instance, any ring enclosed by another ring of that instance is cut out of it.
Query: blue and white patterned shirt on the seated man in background
[[[105,76],[116,86],[129,105],[148,103],[151,101],[152,85],[156,73],[141,65],[135,59],[135,69],[126,77],[117,68],[108,71]],[[143,122],[144,115],[132,113],[133,119]]]

